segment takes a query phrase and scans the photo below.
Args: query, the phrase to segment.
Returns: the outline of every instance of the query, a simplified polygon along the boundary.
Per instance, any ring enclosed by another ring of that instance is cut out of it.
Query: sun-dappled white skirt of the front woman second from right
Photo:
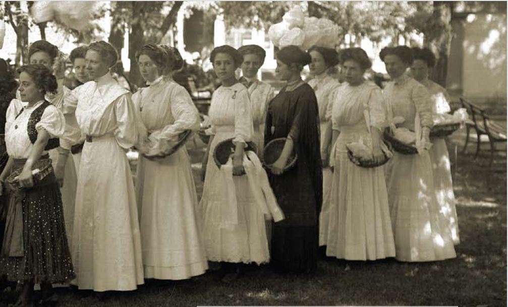
[[[436,201],[428,152],[394,152],[388,182],[395,258],[435,261],[455,258],[452,234]]]

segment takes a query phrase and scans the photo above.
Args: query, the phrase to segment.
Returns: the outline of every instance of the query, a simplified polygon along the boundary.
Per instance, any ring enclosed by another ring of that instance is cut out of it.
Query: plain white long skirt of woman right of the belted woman
[[[145,278],[182,280],[204,274],[208,262],[185,147],[157,161],[140,155],[137,174]]]

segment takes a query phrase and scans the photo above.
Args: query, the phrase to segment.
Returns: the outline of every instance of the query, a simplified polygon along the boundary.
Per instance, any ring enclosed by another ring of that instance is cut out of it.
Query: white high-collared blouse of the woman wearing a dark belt
[[[136,144],[138,127],[131,94],[109,73],[75,88],[64,100],[63,113],[75,112],[84,135],[101,137],[111,133],[125,149]]]

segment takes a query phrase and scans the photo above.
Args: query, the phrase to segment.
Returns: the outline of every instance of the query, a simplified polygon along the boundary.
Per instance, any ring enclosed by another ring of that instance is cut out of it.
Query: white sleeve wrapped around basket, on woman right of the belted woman
[[[173,145],[172,142],[167,141],[177,141],[176,137],[179,133],[185,130],[196,131],[200,128],[198,109],[183,87],[175,87],[167,98],[170,100],[169,105],[175,121],[149,135],[148,139],[152,147],[150,152],[164,153]]]

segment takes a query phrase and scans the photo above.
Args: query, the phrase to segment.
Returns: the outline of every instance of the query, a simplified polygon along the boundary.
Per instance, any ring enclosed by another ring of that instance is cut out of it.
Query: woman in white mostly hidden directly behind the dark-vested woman
[[[61,59],[58,57],[58,48],[47,41],[36,41],[31,44],[28,49],[28,59],[30,64],[42,64],[55,75],[58,89],[54,94],[48,93],[46,95],[46,100],[61,111],[63,108],[63,99],[70,90],[63,85],[63,73],[65,72],[65,66],[61,65]],[[60,191],[62,193],[63,214],[65,216],[67,238],[69,246],[71,246],[77,189],[76,185],[78,179],[74,159],[72,155],[69,155],[72,144],[69,142],[69,131],[67,127],[68,125],[66,123],[66,132],[62,138],[60,138],[60,146],[50,150],[49,157],[53,161],[56,180],[60,185]]]

